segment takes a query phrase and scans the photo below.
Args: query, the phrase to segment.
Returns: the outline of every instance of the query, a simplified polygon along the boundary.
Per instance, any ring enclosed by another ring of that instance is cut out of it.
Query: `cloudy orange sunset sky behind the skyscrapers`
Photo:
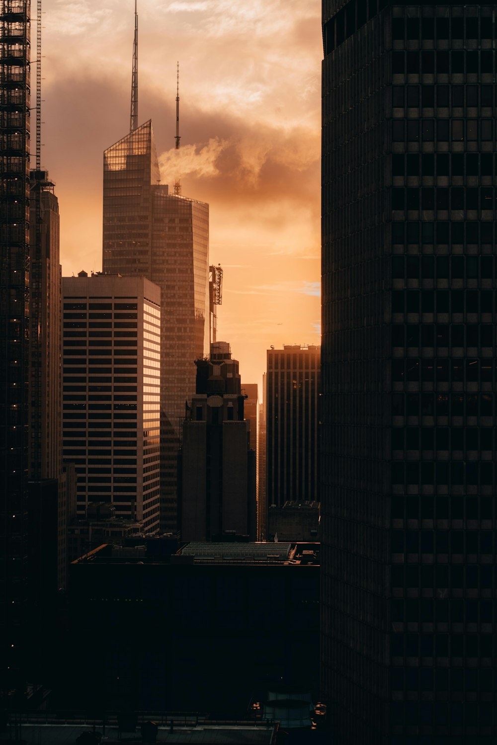
[[[260,384],[271,344],[320,343],[320,1],[138,10],[139,124],[152,119],[162,183],[180,175],[183,194],[210,205],[218,338],[242,382]],[[101,270],[102,153],[129,130],[134,2],[43,0],[43,11],[42,167],[70,276]]]

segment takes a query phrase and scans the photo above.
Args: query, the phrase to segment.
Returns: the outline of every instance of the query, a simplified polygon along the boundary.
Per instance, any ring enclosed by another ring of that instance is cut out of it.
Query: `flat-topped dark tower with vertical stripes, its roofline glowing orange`
[[[320,347],[268,349],[266,503],[317,498]]]

